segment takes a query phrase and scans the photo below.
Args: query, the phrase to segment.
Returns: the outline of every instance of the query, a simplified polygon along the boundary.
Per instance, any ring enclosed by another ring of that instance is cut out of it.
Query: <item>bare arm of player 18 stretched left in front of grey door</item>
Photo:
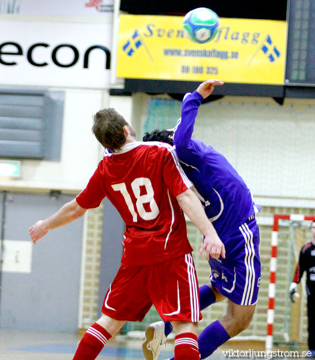
[[[77,203],[76,199],[66,203],[60,210],[51,215],[51,217],[46,220],[40,220],[29,228],[29,235],[33,243],[36,244],[36,241],[45,236],[48,230],[66,225],[73,220],[79,219],[85,214],[86,210],[87,209],[82,208]]]

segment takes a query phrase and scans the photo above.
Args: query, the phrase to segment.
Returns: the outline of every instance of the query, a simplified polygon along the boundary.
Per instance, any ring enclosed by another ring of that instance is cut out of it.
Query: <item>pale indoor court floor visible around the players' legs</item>
[[[82,335],[70,333],[44,333],[22,330],[0,329],[0,360],[71,360],[75,354]],[[144,359],[141,344],[143,339],[130,338],[118,335],[110,339],[98,360],[138,360]],[[174,341],[168,341],[168,346],[163,348],[160,359],[167,359],[174,354]],[[257,341],[228,341],[218,348],[209,357],[211,360],[236,360],[235,354],[225,356],[224,351],[239,350],[264,351],[265,344]],[[289,350],[288,348],[281,348]],[[273,350],[277,350],[274,348]],[[292,350],[292,349],[291,349]],[[306,349],[299,349],[299,352]],[[252,359],[253,357],[242,356],[238,359]],[[262,358],[257,356],[256,359]],[[273,358],[277,358],[274,356]],[[284,357],[282,357],[284,358]],[[290,357],[288,357],[290,358]]]

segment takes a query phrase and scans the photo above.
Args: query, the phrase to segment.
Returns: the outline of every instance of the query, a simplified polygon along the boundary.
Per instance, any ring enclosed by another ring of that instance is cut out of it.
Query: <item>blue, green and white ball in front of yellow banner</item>
[[[218,15],[208,8],[197,8],[188,12],[183,21],[186,37],[196,43],[211,41],[218,31]]]

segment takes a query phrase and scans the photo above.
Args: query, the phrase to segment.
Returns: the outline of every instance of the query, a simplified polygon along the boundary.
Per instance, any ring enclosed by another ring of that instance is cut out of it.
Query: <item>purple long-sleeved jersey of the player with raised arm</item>
[[[192,138],[202,100],[196,91],[184,97],[181,118],[174,129],[174,145],[184,172],[225,243],[260,206],[254,205],[249,188],[229,161],[212,146]]]

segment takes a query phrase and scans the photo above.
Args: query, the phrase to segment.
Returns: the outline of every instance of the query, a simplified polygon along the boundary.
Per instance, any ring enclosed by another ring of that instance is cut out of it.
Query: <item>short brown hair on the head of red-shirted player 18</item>
[[[98,111],[94,116],[92,132],[98,141],[111,152],[116,152],[125,143],[123,132],[129,123],[113,107]]]

